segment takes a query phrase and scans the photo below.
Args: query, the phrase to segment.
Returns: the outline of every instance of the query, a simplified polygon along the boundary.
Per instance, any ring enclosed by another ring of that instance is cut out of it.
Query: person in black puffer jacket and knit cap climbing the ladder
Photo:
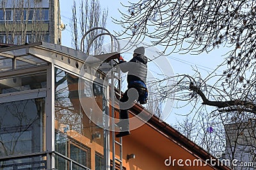
[[[119,57],[119,67],[122,72],[127,75],[128,89],[120,99],[120,122],[116,125],[120,127],[121,132],[116,134],[116,138],[131,134],[129,131],[129,115],[128,109],[132,107],[136,99],[140,104],[147,103],[147,57],[145,56],[145,48],[140,46],[134,50],[133,58],[126,62],[123,57]]]

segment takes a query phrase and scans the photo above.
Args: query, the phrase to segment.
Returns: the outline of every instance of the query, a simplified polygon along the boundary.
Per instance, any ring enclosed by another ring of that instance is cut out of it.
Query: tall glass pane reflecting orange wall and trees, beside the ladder
[[[70,73],[55,69],[55,148],[56,152],[70,157],[80,164],[90,167],[90,154],[86,147],[97,145],[101,148],[98,152],[103,154],[104,131],[95,125],[90,118],[95,115],[94,108],[100,108],[102,113],[106,110],[104,89],[96,83],[85,81],[82,83],[81,96],[88,108],[82,108],[79,101],[78,91],[79,78]],[[93,106],[96,101],[97,106]],[[99,109],[98,109],[99,110]],[[89,115],[89,117],[88,117]],[[92,134],[100,134],[100,138],[92,138]],[[74,145],[76,141],[76,145]],[[68,162],[61,159],[56,160],[56,168],[67,169]],[[73,167],[76,169],[76,167]],[[78,167],[77,167],[78,168]]]

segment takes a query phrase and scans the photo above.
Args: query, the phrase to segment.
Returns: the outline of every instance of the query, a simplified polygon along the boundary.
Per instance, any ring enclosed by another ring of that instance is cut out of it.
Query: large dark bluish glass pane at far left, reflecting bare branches
[[[44,98],[1,103],[0,113],[0,157],[44,151]],[[8,169],[26,162],[26,168],[39,160],[12,159],[0,165]]]

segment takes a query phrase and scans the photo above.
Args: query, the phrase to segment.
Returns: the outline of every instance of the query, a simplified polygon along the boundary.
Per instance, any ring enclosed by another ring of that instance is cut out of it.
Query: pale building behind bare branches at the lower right
[[[225,125],[226,148],[223,159],[237,160],[244,166],[233,169],[255,169],[256,122],[249,120]]]

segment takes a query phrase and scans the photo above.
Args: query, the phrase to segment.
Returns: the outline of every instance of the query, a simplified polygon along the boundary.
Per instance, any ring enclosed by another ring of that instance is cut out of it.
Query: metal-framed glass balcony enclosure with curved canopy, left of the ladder
[[[90,120],[94,108],[82,108],[79,96],[95,99],[104,115],[108,93],[93,61],[80,75],[87,57],[49,43],[0,48],[0,169],[104,166],[106,131]]]

